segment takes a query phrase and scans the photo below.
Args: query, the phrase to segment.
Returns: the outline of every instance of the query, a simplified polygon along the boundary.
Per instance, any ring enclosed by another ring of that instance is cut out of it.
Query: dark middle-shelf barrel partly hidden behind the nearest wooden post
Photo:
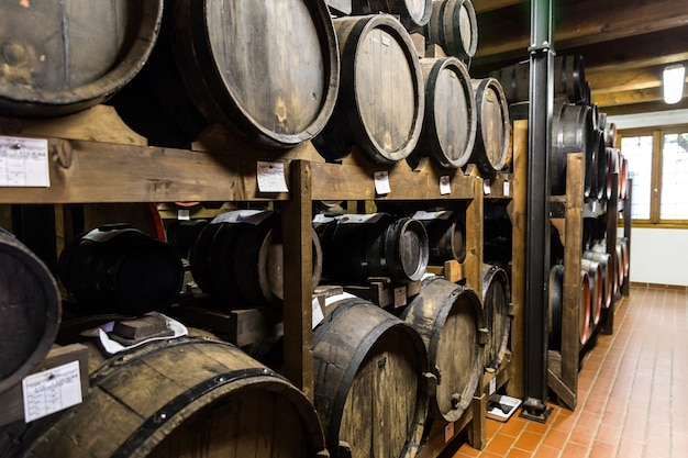
[[[322,250],[312,232],[312,286],[320,282]],[[284,301],[281,216],[268,211],[218,215],[200,232],[189,264],[199,287],[226,309],[280,308]]]

